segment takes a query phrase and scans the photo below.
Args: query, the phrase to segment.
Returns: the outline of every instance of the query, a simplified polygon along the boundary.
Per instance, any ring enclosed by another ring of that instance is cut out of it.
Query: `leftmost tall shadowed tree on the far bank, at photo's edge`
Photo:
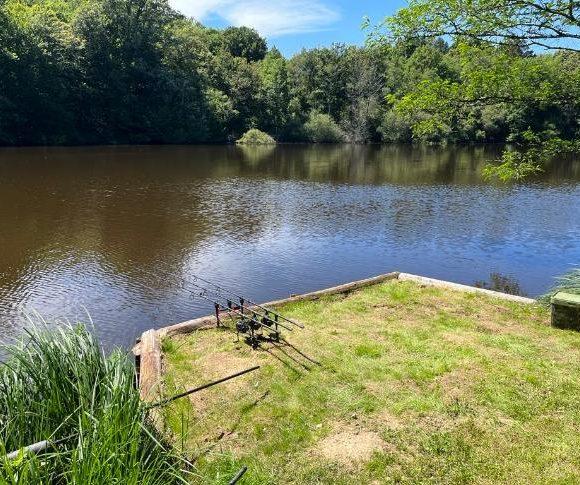
[[[80,41],[61,14],[59,5],[0,4],[0,137],[6,141],[76,139]]]

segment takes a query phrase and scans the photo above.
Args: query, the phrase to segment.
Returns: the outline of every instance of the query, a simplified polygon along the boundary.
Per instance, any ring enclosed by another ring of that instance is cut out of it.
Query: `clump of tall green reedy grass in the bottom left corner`
[[[135,388],[134,367],[106,356],[83,326],[34,328],[6,348],[0,367],[0,483],[185,482],[179,458],[156,436]],[[6,453],[63,440],[35,456]]]

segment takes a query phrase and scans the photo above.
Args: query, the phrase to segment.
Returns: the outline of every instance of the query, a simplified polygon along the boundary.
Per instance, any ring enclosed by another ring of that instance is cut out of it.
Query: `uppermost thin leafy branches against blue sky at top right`
[[[577,0],[411,0],[386,26],[395,39],[449,35],[580,51]]]

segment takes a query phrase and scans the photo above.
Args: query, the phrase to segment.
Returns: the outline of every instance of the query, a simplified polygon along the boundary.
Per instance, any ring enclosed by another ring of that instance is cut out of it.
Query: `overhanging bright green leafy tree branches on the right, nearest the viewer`
[[[442,130],[457,134],[461,120],[485,107],[533,108],[536,114],[526,122],[531,122],[527,128],[535,127],[512,132],[518,142],[515,150],[506,150],[500,163],[485,174],[507,180],[537,173],[557,154],[579,146],[571,140],[578,136],[578,121],[561,123],[548,113],[578,112],[580,71],[554,69],[561,65],[559,57],[532,55],[527,47],[572,51],[577,56],[579,9],[580,2],[557,0],[412,0],[386,20],[387,37],[406,42],[451,35],[456,40],[450,58],[456,76],[438,74],[390,101],[412,124],[417,138]]]

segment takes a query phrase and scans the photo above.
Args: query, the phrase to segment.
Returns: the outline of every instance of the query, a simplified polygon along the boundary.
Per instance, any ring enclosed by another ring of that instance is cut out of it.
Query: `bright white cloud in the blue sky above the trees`
[[[203,21],[217,15],[231,25],[255,28],[265,37],[317,32],[340,19],[318,0],[170,0],[184,15]]]

